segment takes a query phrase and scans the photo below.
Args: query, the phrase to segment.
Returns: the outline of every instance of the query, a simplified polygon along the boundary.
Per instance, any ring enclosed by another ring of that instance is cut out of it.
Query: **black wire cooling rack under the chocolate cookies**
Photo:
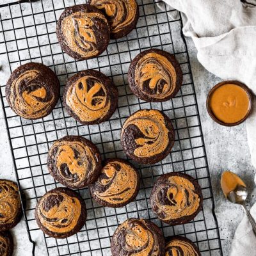
[[[62,99],[51,115],[35,121],[15,115],[5,98],[6,83],[0,77],[1,100],[13,163],[19,187],[26,193],[24,218],[31,243],[36,244],[33,255],[111,255],[110,241],[118,224],[127,218],[146,218],[154,221],[165,237],[186,236],[195,242],[203,256],[222,255],[218,223],[214,215],[211,180],[204,139],[198,115],[193,77],[186,42],[180,29],[182,20],[177,10],[162,9],[154,0],[138,0],[140,20],[127,37],[111,40],[99,58],[75,61],[61,51],[56,39],[56,20],[68,6],[79,0],[39,0],[33,3],[16,1],[0,4],[0,61],[2,68],[15,68],[29,61],[44,63],[56,72],[61,82],[61,95],[68,77],[80,70],[95,68],[111,77],[119,92],[118,109],[108,122],[100,125],[81,125],[67,115]],[[1,3],[2,0],[1,0]],[[171,19],[170,15],[176,17]],[[127,70],[131,60],[141,51],[156,47],[175,54],[182,67],[184,82],[178,95],[168,102],[147,103],[138,100],[127,86]],[[175,127],[176,140],[171,154],[161,163],[138,165],[141,175],[140,192],[134,202],[120,209],[101,207],[92,200],[88,188],[78,192],[86,203],[88,218],[83,229],[67,239],[44,236],[35,222],[34,210],[38,199],[60,186],[47,171],[47,152],[53,141],[65,135],[80,135],[99,147],[103,159],[127,158],[120,147],[120,129],[125,119],[143,108],[161,109]],[[150,209],[150,191],[157,177],[167,172],[185,172],[195,177],[204,195],[204,209],[195,220],[172,227],[159,221]],[[44,244],[45,242],[45,244]]]

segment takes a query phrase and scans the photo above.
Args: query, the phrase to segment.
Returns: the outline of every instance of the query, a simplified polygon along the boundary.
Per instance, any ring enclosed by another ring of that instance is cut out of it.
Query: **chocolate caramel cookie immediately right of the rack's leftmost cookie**
[[[63,95],[68,114],[84,125],[105,122],[115,112],[117,103],[115,85],[96,70],[84,70],[72,76]]]

